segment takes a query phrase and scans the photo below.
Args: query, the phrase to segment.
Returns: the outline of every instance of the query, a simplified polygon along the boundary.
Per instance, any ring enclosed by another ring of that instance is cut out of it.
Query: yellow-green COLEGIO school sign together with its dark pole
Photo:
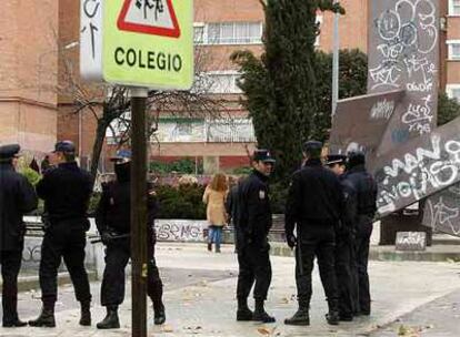
[[[147,336],[148,89],[193,82],[192,0],[81,0],[80,74],[131,88],[132,336]]]

